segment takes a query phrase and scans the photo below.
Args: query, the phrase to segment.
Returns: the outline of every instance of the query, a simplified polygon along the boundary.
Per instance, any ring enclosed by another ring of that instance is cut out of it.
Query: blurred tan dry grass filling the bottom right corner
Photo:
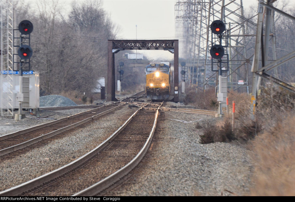
[[[277,122],[253,141],[253,196],[295,196],[295,117]]]

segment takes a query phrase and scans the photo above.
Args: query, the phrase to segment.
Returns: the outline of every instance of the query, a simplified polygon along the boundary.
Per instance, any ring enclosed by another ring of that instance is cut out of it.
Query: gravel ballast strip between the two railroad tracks
[[[66,132],[69,135],[44,147],[0,162],[0,191],[55,170],[86,154],[115,132],[134,111],[124,106],[109,116],[93,120],[88,127]]]

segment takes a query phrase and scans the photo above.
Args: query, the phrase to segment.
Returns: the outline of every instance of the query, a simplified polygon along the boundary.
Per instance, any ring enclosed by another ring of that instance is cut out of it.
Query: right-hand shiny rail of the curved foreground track
[[[99,181],[98,183],[96,183],[96,184],[90,186],[89,188],[86,188],[86,189],[74,194],[73,196],[93,196],[96,193],[99,193],[100,191],[108,188],[110,185],[112,185],[115,182],[117,182],[118,180],[120,180],[120,178],[124,177],[136,165],[138,165],[138,163],[142,160],[142,158],[144,157],[146,151],[148,150],[148,148],[150,146],[150,143],[152,142],[153,134],[155,132],[155,128],[156,128],[156,124],[157,124],[157,118],[158,118],[158,114],[159,114],[159,109],[160,109],[160,106],[162,104],[163,104],[163,102],[157,108],[153,128],[152,128],[152,130],[150,132],[150,135],[149,135],[147,141],[145,142],[142,149],[140,150],[140,152],[127,165],[125,165],[121,169],[117,170],[112,175],[109,175],[108,177],[104,178],[103,180]],[[142,109],[142,108],[140,108],[140,109]]]

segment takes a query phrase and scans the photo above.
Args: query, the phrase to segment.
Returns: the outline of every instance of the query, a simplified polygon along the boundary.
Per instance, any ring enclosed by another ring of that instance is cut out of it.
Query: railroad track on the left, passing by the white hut
[[[142,94],[142,92],[139,94]],[[0,136],[0,156],[8,155],[42,140],[52,138],[53,136],[69,131],[75,127],[78,127],[118,109],[123,105],[120,102],[128,103],[129,101],[134,101],[135,99],[141,97],[141,95],[134,95],[124,98],[122,101],[115,102],[114,104],[100,106],[95,109],[65,117],[63,119],[58,119],[46,124]]]

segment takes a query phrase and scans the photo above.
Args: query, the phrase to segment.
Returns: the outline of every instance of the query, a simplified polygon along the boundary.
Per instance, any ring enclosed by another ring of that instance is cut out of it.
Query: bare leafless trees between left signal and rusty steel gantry
[[[59,1],[18,2],[17,22],[30,20],[32,70],[40,72],[40,95],[86,92],[106,77],[107,40],[118,27],[101,1],[73,1],[64,14]]]

